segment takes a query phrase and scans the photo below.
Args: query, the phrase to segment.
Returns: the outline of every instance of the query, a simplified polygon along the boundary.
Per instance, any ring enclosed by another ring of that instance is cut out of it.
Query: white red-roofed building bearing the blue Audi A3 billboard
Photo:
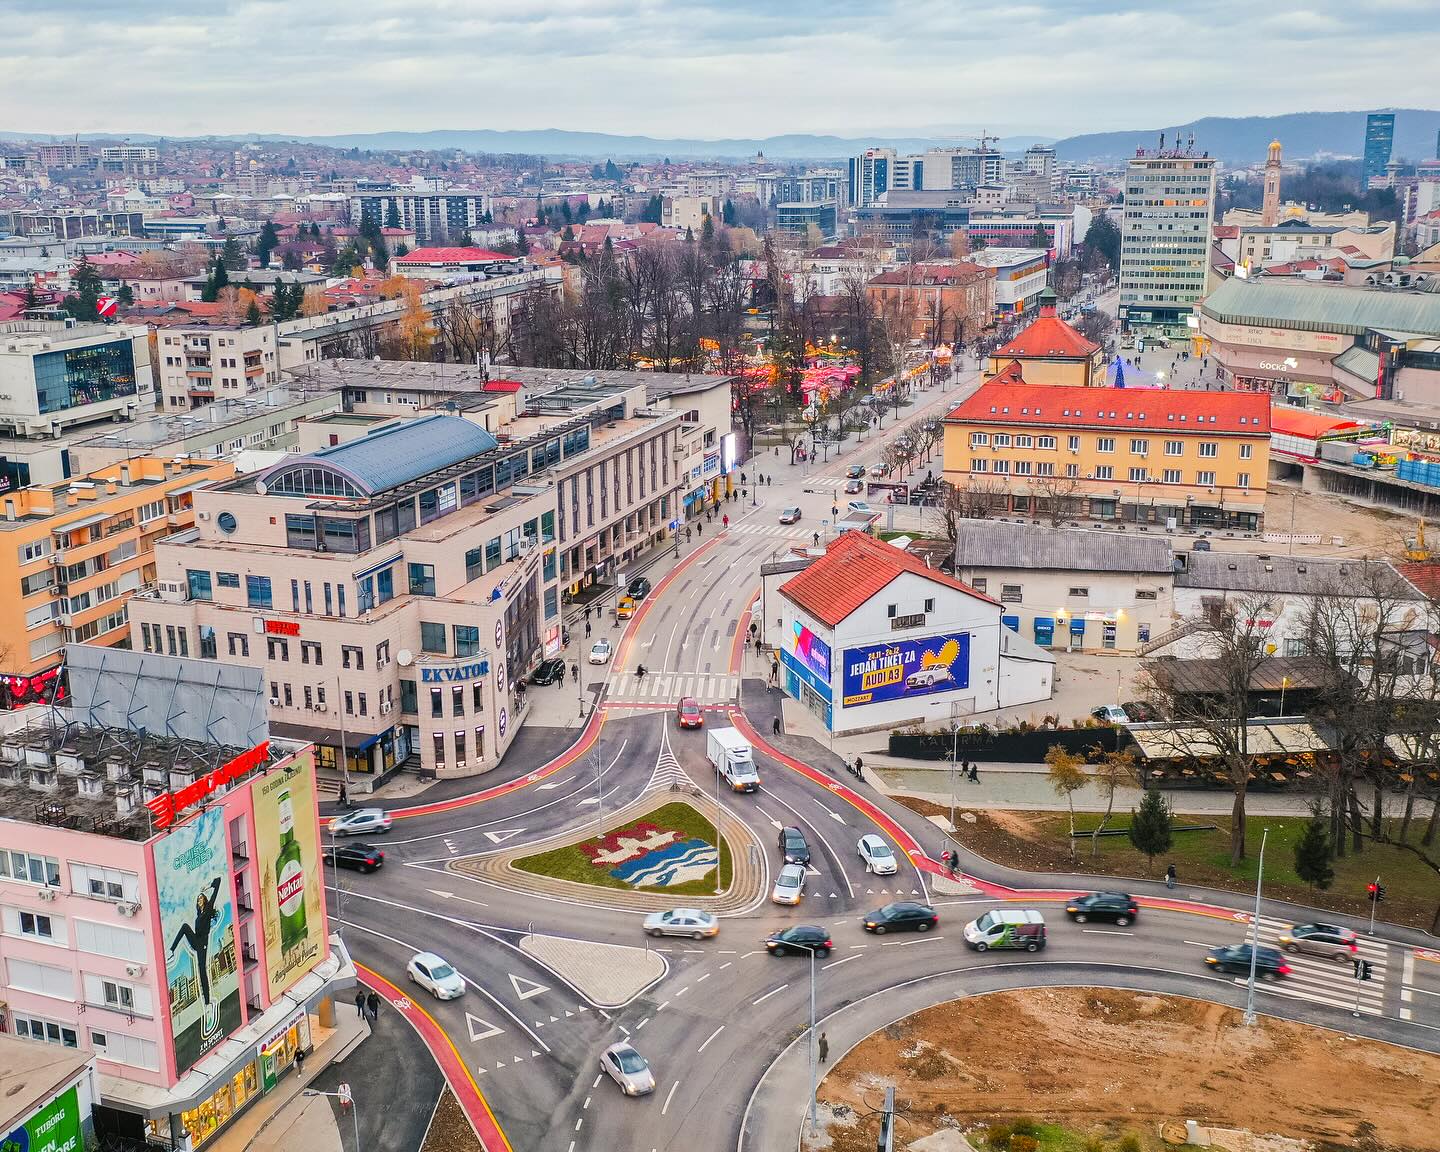
[[[832,733],[1050,698],[1054,657],[1002,621],[999,600],[865,533],[841,534],[776,600],[780,687]]]

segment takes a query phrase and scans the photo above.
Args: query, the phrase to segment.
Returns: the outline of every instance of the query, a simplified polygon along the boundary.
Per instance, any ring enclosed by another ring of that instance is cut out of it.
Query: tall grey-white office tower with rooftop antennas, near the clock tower
[[[1205,292],[1215,216],[1215,160],[1184,147],[1140,148],[1125,173],[1120,226],[1120,325],[1176,330]]]

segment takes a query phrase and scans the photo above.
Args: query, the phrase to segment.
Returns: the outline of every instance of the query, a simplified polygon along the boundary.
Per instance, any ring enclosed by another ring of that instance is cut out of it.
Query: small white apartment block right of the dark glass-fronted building
[[[279,383],[272,324],[187,320],[156,336],[156,367],[166,412],[186,412]]]

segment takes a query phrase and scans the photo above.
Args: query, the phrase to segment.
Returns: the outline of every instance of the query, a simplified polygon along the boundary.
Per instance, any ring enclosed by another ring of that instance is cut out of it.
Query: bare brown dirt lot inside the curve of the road
[[[896,1086],[896,1148],[940,1128],[1020,1116],[1066,1129],[1043,1148],[1159,1148],[1187,1119],[1316,1149],[1440,1149],[1440,1056],[1115,989],[999,992],[942,1004],[864,1040],[821,1084],[847,1112],[808,1148],[871,1152],[873,1109]],[[858,1116],[858,1119],[857,1119]]]

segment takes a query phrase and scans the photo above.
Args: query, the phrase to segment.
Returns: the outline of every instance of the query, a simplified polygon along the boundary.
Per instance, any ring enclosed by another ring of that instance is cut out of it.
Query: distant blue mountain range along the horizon
[[[1436,135],[1440,132],[1440,111],[1420,108],[1384,109],[1395,112],[1397,158],[1424,160],[1437,156]],[[1166,144],[1178,137],[1195,134],[1195,147],[1220,157],[1225,164],[1243,167],[1264,160],[1272,140],[1284,144],[1286,158],[1306,158],[1316,154],[1359,156],[1365,148],[1367,112],[1290,112],[1279,117],[1207,117],[1188,124],[1146,128],[1125,132],[1090,132],[1053,140],[1043,135],[1015,135],[999,140],[999,148],[1018,153],[1031,144],[1054,144],[1061,160],[1120,160],[1136,148],[1153,148],[1165,132]],[[39,132],[4,132],[4,140],[65,140]],[[144,132],[91,134],[82,140],[111,143],[130,140],[156,143],[176,137]],[[924,151],[956,145],[973,145],[975,137],[838,137],[838,135],[772,135],[763,138],[729,140],[660,140],[648,135],[611,135],[609,132],[572,132],[560,128],[536,131],[498,130],[435,130],[426,132],[351,132],[343,135],[289,135],[248,132],[245,135],[203,137],[223,141],[295,141],[331,148],[369,148],[374,151],[433,151],[458,148],[468,153],[520,153],[556,160],[749,160],[763,153],[778,161],[838,161],[858,156],[865,148],[896,148],[901,153]]]

